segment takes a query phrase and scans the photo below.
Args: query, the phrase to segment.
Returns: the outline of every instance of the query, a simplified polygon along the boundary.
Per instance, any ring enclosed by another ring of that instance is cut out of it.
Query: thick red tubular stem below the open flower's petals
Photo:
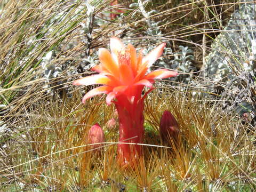
[[[119,142],[121,142],[117,145],[118,162],[121,166],[128,164],[133,166],[142,155],[142,146],[125,143],[143,143],[143,99],[130,101],[127,97],[120,96],[117,97],[116,108],[119,116]]]

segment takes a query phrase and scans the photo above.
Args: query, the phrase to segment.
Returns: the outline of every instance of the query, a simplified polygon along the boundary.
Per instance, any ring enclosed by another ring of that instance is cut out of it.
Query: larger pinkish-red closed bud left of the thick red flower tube
[[[94,144],[94,143],[100,143],[97,145],[92,145],[92,149],[98,148],[103,146],[103,142],[105,142],[105,136],[102,128],[98,123],[93,125],[88,133],[88,143]]]

